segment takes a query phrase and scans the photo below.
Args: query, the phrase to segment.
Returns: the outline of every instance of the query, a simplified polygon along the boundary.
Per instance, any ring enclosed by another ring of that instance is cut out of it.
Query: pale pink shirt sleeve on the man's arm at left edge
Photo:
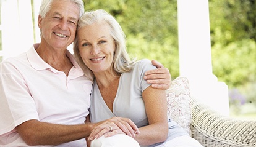
[[[25,79],[11,61],[0,63],[0,135],[17,125],[38,119],[35,102]]]

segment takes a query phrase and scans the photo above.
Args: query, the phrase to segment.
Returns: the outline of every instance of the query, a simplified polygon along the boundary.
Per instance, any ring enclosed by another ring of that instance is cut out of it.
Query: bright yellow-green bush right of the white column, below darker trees
[[[216,43],[211,47],[213,73],[229,87],[255,81],[256,43],[252,39],[231,42],[227,46]]]

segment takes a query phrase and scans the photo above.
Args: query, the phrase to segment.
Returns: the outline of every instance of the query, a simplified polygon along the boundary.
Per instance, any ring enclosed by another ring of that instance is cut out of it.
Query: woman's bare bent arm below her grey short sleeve
[[[142,93],[149,125],[140,127],[134,138],[140,145],[163,142],[168,136],[167,101],[165,90],[149,86]]]

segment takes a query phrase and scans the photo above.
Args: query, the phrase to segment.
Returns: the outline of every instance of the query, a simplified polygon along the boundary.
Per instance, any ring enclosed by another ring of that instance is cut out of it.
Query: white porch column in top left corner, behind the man
[[[3,0],[1,18],[4,58],[30,49],[34,42],[31,1]]]

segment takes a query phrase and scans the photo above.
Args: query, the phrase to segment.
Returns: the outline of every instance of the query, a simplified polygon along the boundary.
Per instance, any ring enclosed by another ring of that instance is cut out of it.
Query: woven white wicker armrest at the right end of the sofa
[[[191,109],[192,137],[203,146],[256,146],[256,121],[222,116],[194,98]]]

